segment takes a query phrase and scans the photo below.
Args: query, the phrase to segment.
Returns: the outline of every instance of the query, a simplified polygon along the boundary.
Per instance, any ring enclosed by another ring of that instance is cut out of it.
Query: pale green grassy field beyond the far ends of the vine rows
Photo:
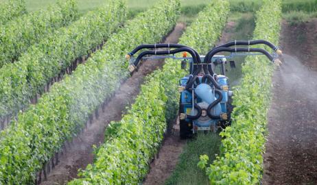
[[[0,3],[8,0],[0,0]],[[39,10],[55,3],[57,0],[25,0],[27,11]],[[129,17],[153,5],[157,0],[127,0]],[[182,4],[182,16],[180,22],[191,23],[196,14],[204,8],[210,0],[180,0]],[[231,12],[253,12],[261,5],[261,0],[229,0]],[[80,13],[84,14],[89,10],[97,8],[106,0],[78,0]],[[317,17],[317,0],[283,0],[283,18],[291,24],[308,21]]]

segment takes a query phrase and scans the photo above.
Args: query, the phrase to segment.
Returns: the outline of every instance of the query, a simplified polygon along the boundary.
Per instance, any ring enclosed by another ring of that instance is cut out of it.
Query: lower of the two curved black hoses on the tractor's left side
[[[146,55],[168,55],[168,54],[180,53],[183,51],[186,51],[191,55],[191,57],[193,58],[194,64],[198,64],[196,53],[192,49],[189,49],[188,47],[180,47],[178,49],[168,50],[168,51],[143,51],[142,53],[139,54],[137,59],[134,61],[134,66],[137,66],[141,58],[143,58],[143,56],[146,56]]]

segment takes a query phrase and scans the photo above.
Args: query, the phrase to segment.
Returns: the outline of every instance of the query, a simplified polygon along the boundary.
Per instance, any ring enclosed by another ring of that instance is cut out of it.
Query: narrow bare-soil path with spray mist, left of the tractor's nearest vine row
[[[178,42],[184,28],[185,25],[178,23],[165,42]],[[121,114],[125,111],[126,106],[133,103],[134,97],[139,94],[143,77],[161,66],[163,66],[163,60],[143,62],[139,70],[120,86],[116,95],[106,105],[106,111],[99,110],[99,118],[94,119],[93,123],[75,138],[66,153],[60,156],[59,164],[47,175],[47,181],[42,184],[64,184],[77,177],[78,169],[84,169],[87,164],[92,163],[92,146],[103,143],[105,127],[110,121],[121,119]]]

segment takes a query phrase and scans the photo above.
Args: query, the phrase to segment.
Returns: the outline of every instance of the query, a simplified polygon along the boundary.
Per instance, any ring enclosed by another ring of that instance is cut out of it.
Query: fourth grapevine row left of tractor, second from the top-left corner
[[[17,60],[30,46],[52,34],[56,28],[69,25],[77,16],[75,0],[60,0],[47,10],[24,14],[3,25],[0,29],[0,68]]]

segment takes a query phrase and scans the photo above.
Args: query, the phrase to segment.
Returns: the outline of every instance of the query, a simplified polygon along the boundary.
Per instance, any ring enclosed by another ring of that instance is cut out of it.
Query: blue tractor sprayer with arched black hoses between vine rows
[[[237,47],[244,45],[247,47]],[[270,54],[265,49],[251,48],[251,45],[267,45],[274,52]],[[144,51],[144,49],[148,49]],[[158,50],[160,49],[160,50]],[[133,58],[138,51],[137,58]],[[228,56],[217,56],[217,53],[229,52]],[[183,57],[176,57],[176,53],[183,53]],[[187,57],[189,53],[190,57]],[[152,44],[139,45],[128,53],[130,60],[128,69],[132,73],[141,59],[174,58],[181,61],[182,69],[189,74],[180,79],[179,119],[180,138],[189,138],[199,131],[217,132],[219,128],[231,125],[231,105],[233,92],[228,77],[226,77],[226,59],[233,56],[264,55],[274,64],[281,64],[279,55],[282,52],[266,40],[232,41],[211,49],[206,56],[185,45],[178,44]],[[187,67],[189,63],[189,67]],[[235,62],[230,61],[235,67]],[[220,74],[216,74],[216,68]]]

